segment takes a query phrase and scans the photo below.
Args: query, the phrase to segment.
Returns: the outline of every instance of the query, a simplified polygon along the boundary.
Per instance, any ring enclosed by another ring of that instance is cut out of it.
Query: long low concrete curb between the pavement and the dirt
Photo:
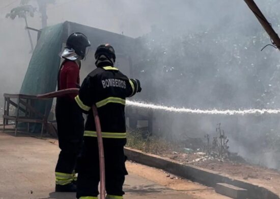
[[[243,189],[247,189],[248,198],[279,199],[277,194],[264,187],[231,179],[229,177],[220,175],[218,172],[200,168],[198,166],[183,165],[169,158],[145,154],[139,150],[134,150],[131,148],[125,148],[125,155],[127,156],[128,160],[163,169],[167,172],[173,173],[176,176],[180,176],[194,182],[199,182],[206,186],[215,187],[216,183],[228,183]]]

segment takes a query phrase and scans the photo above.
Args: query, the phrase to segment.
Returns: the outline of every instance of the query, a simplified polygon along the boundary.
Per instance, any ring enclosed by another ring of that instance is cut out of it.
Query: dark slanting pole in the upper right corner
[[[271,27],[271,24],[267,21],[261,10],[258,8],[254,0],[244,0],[244,2],[248,5],[248,7],[251,9],[251,11],[255,14],[257,19],[262,24],[262,27],[267,32],[267,34],[272,39],[272,43],[277,46],[277,48],[280,50],[280,38],[277,35],[277,33],[273,30]]]

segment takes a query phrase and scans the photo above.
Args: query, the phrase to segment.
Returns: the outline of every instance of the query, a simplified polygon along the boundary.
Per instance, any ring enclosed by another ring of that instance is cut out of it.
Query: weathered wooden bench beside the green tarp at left
[[[44,113],[36,110],[33,105],[35,101],[46,101],[48,99],[38,99],[35,95],[24,94],[4,94],[5,106],[3,115],[3,131],[5,126],[9,125],[9,120],[15,121],[15,136],[18,132],[18,122],[27,123],[27,132],[30,132],[30,123],[41,123],[41,137],[47,124],[47,105],[44,107]],[[13,99],[13,100],[12,100]],[[11,115],[10,108],[15,108],[15,114]],[[22,114],[20,114],[20,112]]]

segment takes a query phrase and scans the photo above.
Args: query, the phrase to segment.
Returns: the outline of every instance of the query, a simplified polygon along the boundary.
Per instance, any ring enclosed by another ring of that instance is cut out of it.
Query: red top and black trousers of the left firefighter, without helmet
[[[78,87],[79,66],[75,61],[65,60],[58,75],[58,90]],[[57,185],[68,185],[75,180],[73,173],[81,150],[83,117],[74,97],[75,94],[58,97],[55,107],[61,149],[55,167],[55,183]]]

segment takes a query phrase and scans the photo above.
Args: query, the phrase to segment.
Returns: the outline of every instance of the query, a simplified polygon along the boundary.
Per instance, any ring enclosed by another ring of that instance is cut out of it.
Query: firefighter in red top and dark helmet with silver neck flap
[[[71,34],[61,57],[58,74],[58,90],[79,87],[80,61],[85,58],[90,41],[82,33]],[[55,167],[55,191],[75,192],[77,157],[80,154],[83,139],[84,120],[82,112],[75,103],[75,94],[57,98],[55,117],[58,123],[58,138],[61,152]]]

